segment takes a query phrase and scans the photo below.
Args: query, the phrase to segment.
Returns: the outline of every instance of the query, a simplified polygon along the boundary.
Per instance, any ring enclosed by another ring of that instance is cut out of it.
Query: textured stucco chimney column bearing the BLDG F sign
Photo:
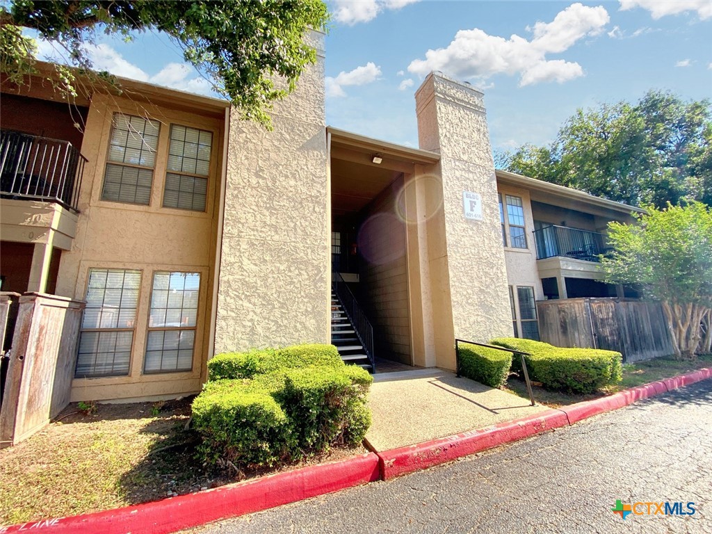
[[[420,147],[441,154],[449,279],[444,290],[450,293],[454,336],[486,342],[507,335],[511,313],[483,95],[431,73],[416,103]],[[465,218],[463,192],[481,195],[482,221]],[[439,352],[437,365],[454,368],[454,350]]]

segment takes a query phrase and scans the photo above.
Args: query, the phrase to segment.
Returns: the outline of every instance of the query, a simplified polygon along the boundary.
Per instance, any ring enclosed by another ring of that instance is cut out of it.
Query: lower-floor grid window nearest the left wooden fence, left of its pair
[[[129,374],[141,271],[91,269],[75,377]]]

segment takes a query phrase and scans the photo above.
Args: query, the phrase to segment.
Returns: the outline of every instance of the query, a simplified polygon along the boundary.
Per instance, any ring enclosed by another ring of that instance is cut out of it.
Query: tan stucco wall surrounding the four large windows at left
[[[100,199],[113,112],[148,116],[161,122],[149,206]],[[62,255],[56,293],[83,299],[90,268],[139,269],[142,278],[129,375],[74,379],[72,401],[176,397],[200,390],[206,376],[209,350],[211,266],[215,257],[219,207],[216,197],[224,137],[224,120],[216,118],[219,114],[219,110],[201,115],[198,108],[186,112],[152,105],[150,99],[138,96],[94,95],[81,150],[88,157],[88,163],[80,192],[76,236],[71,250]],[[162,207],[169,125],[172,123],[213,133],[204,213]],[[198,326],[190,372],[150,375],[142,372],[155,271],[200,273]]]

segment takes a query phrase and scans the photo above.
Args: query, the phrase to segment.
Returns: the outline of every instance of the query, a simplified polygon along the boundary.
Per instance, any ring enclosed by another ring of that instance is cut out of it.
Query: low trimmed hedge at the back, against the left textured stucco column
[[[333,345],[293,345],[281,349],[224,352],[208,362],[210,380],[252,378],[296,367],[343,367],[339,351]]]

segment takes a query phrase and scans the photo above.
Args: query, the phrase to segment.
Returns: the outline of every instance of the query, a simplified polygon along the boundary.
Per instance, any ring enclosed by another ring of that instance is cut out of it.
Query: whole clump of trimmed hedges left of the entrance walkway
[[[344,365],[331,345],[224,354],[208,365],[193,421],[209,463],[273,466],[359,444],[371,424],[371,375]]]

